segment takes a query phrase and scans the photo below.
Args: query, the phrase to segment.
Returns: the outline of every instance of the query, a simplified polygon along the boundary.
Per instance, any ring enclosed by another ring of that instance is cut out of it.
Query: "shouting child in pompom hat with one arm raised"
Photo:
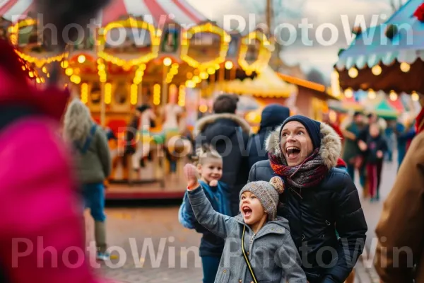
[[[307,282],[288,221],[276,215],[278,194],[284,190],[281,178],[245,185],[240,191],[241,214],[230,217],[213,209],[193,165],[187,164],[184,173],[197,221],[225,238],[215,282]]]

